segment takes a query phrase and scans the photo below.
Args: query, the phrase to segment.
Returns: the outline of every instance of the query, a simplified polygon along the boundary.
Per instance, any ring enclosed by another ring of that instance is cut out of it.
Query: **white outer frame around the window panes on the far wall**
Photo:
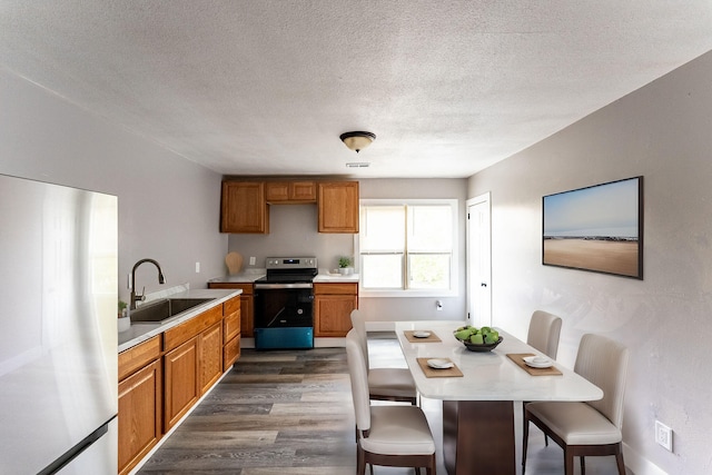
[[[459,234],[458,229],[458,219],[459,219],[459,210],[458,210],[458,201],[457,199],[448,199],[448,198],[419,198],[419,199],[362,199],[359,200],[359,219],[360,219],[360,207],[363,206],[428,206],[428,205],[447,205],[451,207],[453,211],[453,248],[451,254],[451,266],[449,266],[449,289],[373,289],[373,288],[364,288],[363,280],[359,280],[359,297],[457,297],[458,295],[458,268],[459,268]],[[364,222],[360,222],[360,229],[365,229]],[[355,256],[358,261],[358,268],[363,267],[362,264],[362,255],[360,255],[360,236],[354,236],[354,249]],[[406,254],[407,256],[407,254]]]

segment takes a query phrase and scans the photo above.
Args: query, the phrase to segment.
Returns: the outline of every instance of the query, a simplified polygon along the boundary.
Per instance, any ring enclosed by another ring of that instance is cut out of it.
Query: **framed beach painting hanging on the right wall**
[[[643,278],[643,177],[542,201],[542,264]]]

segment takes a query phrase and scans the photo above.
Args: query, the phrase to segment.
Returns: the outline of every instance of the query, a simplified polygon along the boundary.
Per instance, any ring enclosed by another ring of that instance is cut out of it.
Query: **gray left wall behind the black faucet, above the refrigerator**
[[[220,176],[108,123],[0,69],[0,174],[119,197],[119,297],[141,258],[139,287],[189,283],[205,288],[224,274],[227,237],[218,232]],[[200,273],[196,274],[196,261]]]

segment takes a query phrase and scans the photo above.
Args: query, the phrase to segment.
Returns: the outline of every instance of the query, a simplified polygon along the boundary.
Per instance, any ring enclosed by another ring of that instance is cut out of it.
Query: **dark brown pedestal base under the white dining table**
[[[514,403],[444,400],[443,458],[449,475],[514,475]]]

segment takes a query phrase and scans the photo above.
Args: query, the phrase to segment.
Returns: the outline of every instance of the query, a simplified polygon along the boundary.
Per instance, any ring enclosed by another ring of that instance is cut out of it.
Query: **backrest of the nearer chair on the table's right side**
[[[581,338],[574,372],[603,389],[603,398],[587,404],[623,427],[623,399],[627,375],[629,349],[602,335]]]

